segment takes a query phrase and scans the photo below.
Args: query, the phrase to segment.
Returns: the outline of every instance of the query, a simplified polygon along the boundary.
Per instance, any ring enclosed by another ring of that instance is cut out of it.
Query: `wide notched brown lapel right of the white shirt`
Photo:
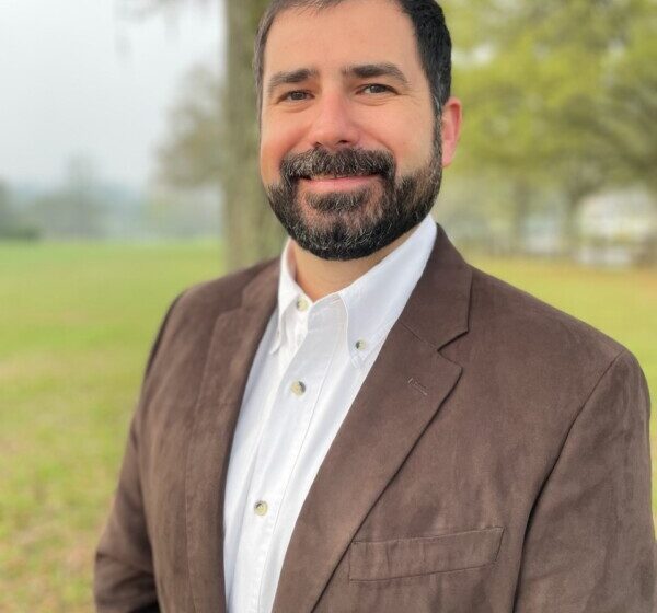
[[[471,269],[438,227],[434,251],[306,498],[274,613],[310,613],[358,528],[456,385],[439,349],[468,331]]]

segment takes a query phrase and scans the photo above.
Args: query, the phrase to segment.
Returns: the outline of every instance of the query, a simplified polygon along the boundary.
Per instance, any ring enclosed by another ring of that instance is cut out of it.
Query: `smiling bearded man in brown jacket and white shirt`
[[[275,0],[261,171],[280,258],[195,287],[151,351],[100,611],[650,613],[634,357],[469,266],[431,0]]]

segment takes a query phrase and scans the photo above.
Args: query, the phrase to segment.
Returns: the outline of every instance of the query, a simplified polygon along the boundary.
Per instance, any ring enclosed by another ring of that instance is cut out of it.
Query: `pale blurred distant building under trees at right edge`
[[[631,266],[657,261],[657,201],[643,189],[587,197],[577,217],[577,261]]]

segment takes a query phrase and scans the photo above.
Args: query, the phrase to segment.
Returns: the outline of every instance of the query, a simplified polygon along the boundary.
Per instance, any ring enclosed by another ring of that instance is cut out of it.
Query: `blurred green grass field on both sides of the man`
[[[657,271],[477,265],[625,344],[657,393]],[[160,317],[210,243],[0,243],[0,611],[91,610],[93,548]],[[657,427],[652,423],[657,484]],[[653,508],[657,511],[657,487]]]

